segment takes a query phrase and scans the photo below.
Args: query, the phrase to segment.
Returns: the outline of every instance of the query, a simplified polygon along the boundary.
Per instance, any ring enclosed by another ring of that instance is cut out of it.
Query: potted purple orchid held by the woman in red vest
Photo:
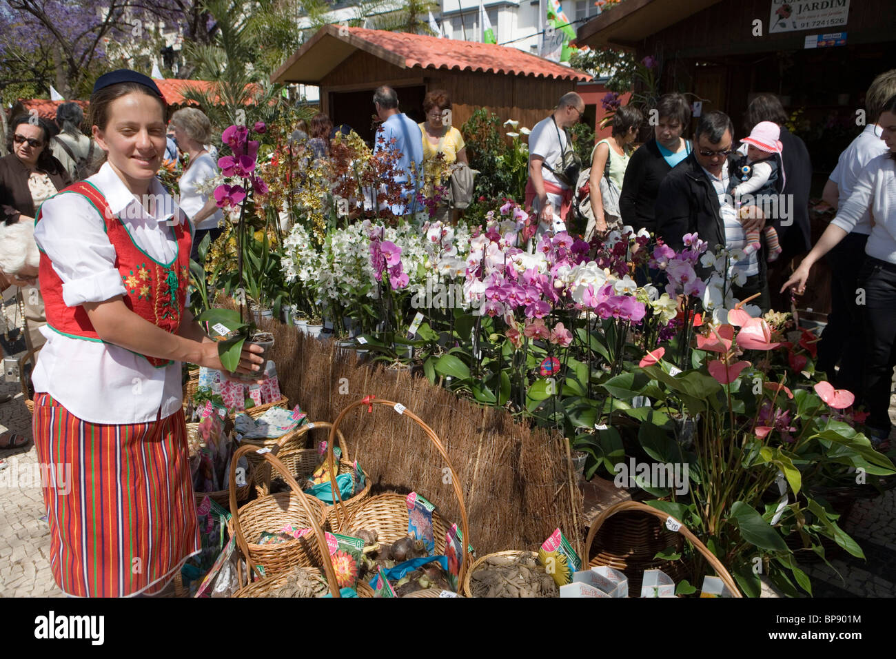
[[[265,126],[262,122],[254,125],[255,133],[263,133]],[[240,352],[243,344],[248,341],[263,348],[261,355],[267,360],[274,343],[274,337],[270,332],[260,332],[254,323],[250,322],[246,313],[246,278],[244,276],[244,256],[249,237],[246,226],[246,208],[254,203],[254,195],[265,195],[267,185],[255,173],[258,158],[259,143],[249,139],[250,129],[247,126],[229,126],[221,135],[221,141],[230,148],[232,155],[224,156],[218,160],[221,174],[228,180],[241,179],[230,185],[222,184],[215,188],[215,200],[217,205],[226,210],[239,207],[239,220],[237,221],[237,303],[239,310],[225,308],[208,308],[197,316],[197,320],[208,323],[211,336],[218,341],[218,354],[221,364],[231,373],[236,372],[239,366]],[[265,364],[267,362],[265,361]],[[261,369],[264,372],[264,368]],[[241,379],[252,380],[253,375],[237,375]]]

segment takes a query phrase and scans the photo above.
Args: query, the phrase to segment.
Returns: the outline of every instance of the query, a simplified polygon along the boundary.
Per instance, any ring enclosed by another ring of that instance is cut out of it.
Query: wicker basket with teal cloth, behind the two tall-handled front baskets
[[[332,425],[332,423],[327,421],[313,421],[306,423],[296,431],[289,433],[289,436],[280,438],[280,441],[271,448],[271,452],[280,458],[280,462],[287,466],[289,473],[291,473],[297,481],[305,480],[314,473],[314,470],[320,464],[317,449],[304,447],[306,435],[314,429],[331,429]],[[351,462],[351,458],[349,457],[349,447],[345,442],[341,430],[337,430],[336,436],[339,441],[340,449],[342,450],[337,475],[340,473],[351,473],[355,469],[355,464]],[[271,467],[267,464],[259,464],[257,466],[258,476],[254,479],[255,490],[261,497],[269,494],[271,491]],[[358,507],[361,501],[364,501],[370,496],[370,476],[368,476],[363,469],[361,472],[364,473],[364,489],[350,499],[346,499],[342,502],[349,514]],[[323,505],[327,507],[328,527],[335,528],[336,508],[326,502],[323,502]]]

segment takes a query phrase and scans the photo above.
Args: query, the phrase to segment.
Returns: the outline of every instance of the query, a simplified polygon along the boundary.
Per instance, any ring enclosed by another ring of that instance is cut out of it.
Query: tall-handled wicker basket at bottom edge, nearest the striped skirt
[[[251,450],[257,450],[257,449],[254,449],[252,447],[240,447],[240,449],[239,449],[239,451],[237,451],[237,454],[235,455],[235,457],[237,455],[239,455],[240,452],[247,453],[248,451],[251,451]],[[244,455],[245,455],[245,453],[244,453]],[[316,550],[317,550],[316,552],[322,557],[323,569],[308,568],[308,567],[302,567],[302,568],[298,568],[298,569],[305,571],[309,576],[324,577],[326,579],[327,585],[330,588],[330,593],[332,594],[332,596],[339,597],[340,589],[339,589],[339,585],[338,585],[338,582],[336,579],[336,571],[333,569],[333,566],[332,566],[332,561],[330,559],[330,551],[328,551],[328,549],[327,549],[326,538],[323,535],[323,528],[322,528],[322,525],[319,523],[318,519],[315,519],[316,511],[314,510],[314,501],[316,499],[312,499],[312,498],[306,497],[304,495],[301,488],[298,487],[298,483],[296,482],[296,479],[294,479],[292,477],[292,474],[289,473],[289,469],[287,468],[287,466],[285,464],[283,464],[282,462],[280,462],[280,460],[277,458],[276,455],[272,455],[271,452],[265,452],[262,455],[263,455],[263,460],[265,462],[269,463],[271,465],[271,468],[273,468],[278,473],[280,473],[280,476],[283,478],[283,480],[287,482],[287,484],[289,485],[289,489],[290,489],[289,494],[292,495],[293,499],[297,500],[299,502],[299,504],[301,505],[301,507],[305,508],[306,517],[307,517],[308,521],[311,523],[311,528],[312,528],[311,536],[306,535],[305,538],[309,538],[309,537],[313,536],[312,539],[316,545]],[[232,491],[232,485],[233,485],[233,479],[231,478],[231,491]],[[234,497],[231,497],[231,504],[236,505],[235,495],[234,495]],[[243,552],[243,555],[246,557],[249,557],[251,550],[249,549],[249,546],[246,543],[246,536],[242,533],[242,529],[241,529],[240,525],[238,525],[238,524],[236,525],[236,530],[237,530],[237,545],[239,546],[240,551]],[[305,538],[302,538],[301,540],[304,541]],[[262,575],[259,574],[258,570],[255,569],[254,559],[248,559],[247,562],[248,562],[249,570],[250,570],[247,577],[251,580],[252,573],[254,572],[256,576],[261,577],[261,580],[256,581],[255,583],[250,583],[249,585],[246,585],[246,586],[240,588],[237,591],[237,593],[233,595],[234,597],[263,597],[264,595],[271,593],[271,591],[274,591],[274,590],[280,588],[281,585],[286,584],[286,582],[289,580],[290,574],[293,571],[292,569],[286,569],[286,570],[283,570],[283,572],[278,575],[271,576],[271,574],[266,570],[265,573],[268,576],[262,577]],[[374,596],[373,589],[370,587],[370,585],[365,584],[363,581],[358,581],[357,592],[358,592],[359,597],[373,597]]]

